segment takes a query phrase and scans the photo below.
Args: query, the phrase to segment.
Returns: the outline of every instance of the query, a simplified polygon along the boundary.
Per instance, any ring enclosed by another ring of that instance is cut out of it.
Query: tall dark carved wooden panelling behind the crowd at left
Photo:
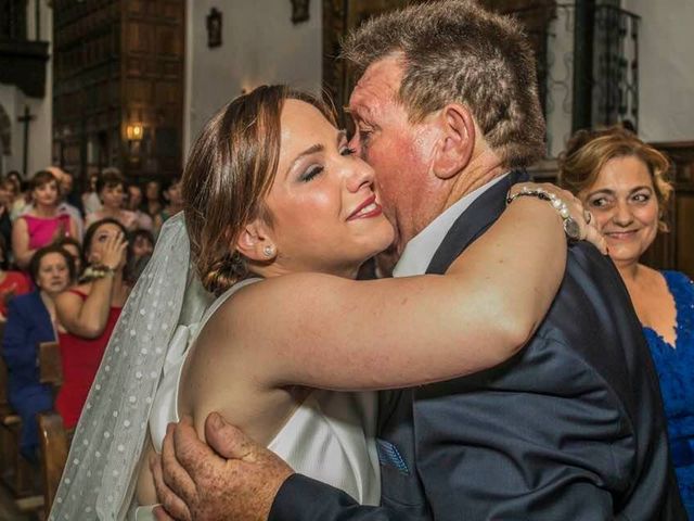
[[[82,179],[108,165],[132,177],[179,174],[184,0],[54,1],[54,160]],[[132,123],[142,142],[127,141]],[[164,132],[164,162],[159,126],[175,129]]]

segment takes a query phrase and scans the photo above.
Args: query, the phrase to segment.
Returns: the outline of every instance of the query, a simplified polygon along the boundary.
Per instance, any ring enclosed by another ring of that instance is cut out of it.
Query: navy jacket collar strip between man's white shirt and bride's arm
[[[506,207],[506,193],[516,182],[528,179],[523,170],[513,170],[505,178],[479,195],[463,212],[446,234],[434,254],[427,274],[442,275],[472,242],[481,236]]]

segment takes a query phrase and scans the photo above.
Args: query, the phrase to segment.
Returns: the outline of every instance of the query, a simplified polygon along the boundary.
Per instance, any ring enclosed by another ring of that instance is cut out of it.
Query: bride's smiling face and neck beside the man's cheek
[[[281,125],[278,171],[266,200],[275,263],[286,271],[352,277],[394,238],[374,192],[373,169],[306,102],[286,100]]]

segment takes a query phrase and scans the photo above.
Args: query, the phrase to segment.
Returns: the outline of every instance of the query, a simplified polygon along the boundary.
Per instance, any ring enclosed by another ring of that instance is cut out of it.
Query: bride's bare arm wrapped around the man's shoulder
[[[218,371],[223,360],[248,364],[270,386],[363,390],[447,380],[513,356],[544,317],[565,263],[557,212],[518,198],[445,276],[352,281],[296,274],[242,290],[216,317],[220,342],[206,342],[205,356]],[[234,339],[234,355],[224,356],[226,339]]]

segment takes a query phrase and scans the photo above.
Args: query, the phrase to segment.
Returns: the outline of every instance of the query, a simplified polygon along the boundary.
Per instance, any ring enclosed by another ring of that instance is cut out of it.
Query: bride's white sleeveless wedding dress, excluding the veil
[[[164,377],[150,414],[150,433],[160,453],[169,422],[179,421],[178,392],[183,364],[207,320],[241,288],[260,279],[235,284],[205,313],[200,327],[180,332],[169,346]],[[362,505],[377,505],[381,496],[375,447],[376,394],[313,390],[268,444],[296,472],[345,491]],[[137,520],[154,519],[152,507],[137,509]]]

